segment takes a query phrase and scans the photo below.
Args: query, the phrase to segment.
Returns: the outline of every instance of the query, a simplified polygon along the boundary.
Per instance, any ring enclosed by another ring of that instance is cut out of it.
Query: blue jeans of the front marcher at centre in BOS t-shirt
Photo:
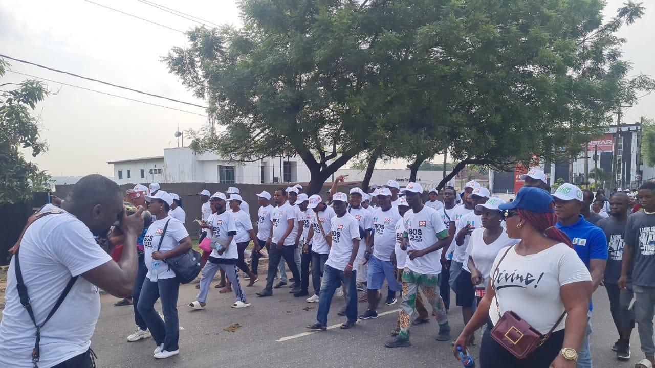
[[[356,280],[357,271],[352,271],[350,277],[343,275],[343,270],[325,265],[323,270],[323,279],[321,280],[321,292],[318,295],[318,312],[316,313],[316,322],[327,326],[327,314],[329,306],[332,303],[332,297],[337,287],[341,287],[343,282],[348,295],[346,296],[346,318],[348,322],[357,322],[357,289]]]

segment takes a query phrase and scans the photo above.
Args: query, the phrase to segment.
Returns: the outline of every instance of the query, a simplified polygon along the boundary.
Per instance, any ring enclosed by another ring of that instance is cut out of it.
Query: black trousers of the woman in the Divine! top
[[[550,338],[525,359],[518,359],[491,338],[489,331],[493,326],[487,321],[480,345],[480,368],[548,368],[557,358],[564,342],[564,329],[553,332]]]

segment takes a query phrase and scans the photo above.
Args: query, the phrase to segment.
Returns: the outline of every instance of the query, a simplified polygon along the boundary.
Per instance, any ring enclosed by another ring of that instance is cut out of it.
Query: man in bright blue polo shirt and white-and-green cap
[[[580,215],[584,204],[582,190],[572,184],[563,184],[553,193],[555,214],[557,214],[557,229],[562,230],[573,243],[576,253],[589,269],[593,282],[593,291],[603,280],[605,263],[607,263],[607,238],[605,232],[591,225]],[[591,310],[589,303],[589,323],[587,335],[578,352],[578,368],[591,368],[591,351],[589,350],[589,335],[591,335]]]

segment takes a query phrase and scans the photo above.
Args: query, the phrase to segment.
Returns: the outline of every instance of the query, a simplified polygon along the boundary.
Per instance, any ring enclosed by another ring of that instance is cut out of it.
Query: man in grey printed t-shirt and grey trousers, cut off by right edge
[[[639,364],[650,367],[655,363],[653,342],[653,310],[655,308],[655,183],[647,182],[639,188],[641,210],[627,218],[626,246],[618,286],[627,291],[629,270],[635,291],[635,320],[646,355]]]

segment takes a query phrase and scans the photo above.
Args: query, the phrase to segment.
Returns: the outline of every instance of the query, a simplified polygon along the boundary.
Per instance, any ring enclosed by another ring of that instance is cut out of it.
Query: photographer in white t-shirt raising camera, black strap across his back
[[[99,288],[128,297],[137,273],[143,208],[127,216],[123,196],[107,177],[87,175],[73,186],[62,208],[48,204],[28,219],[10,249],[14,256],[0,322],[0,366],[94,366],[90,340],[100,314]],[[125,238],[115,262],[94,235],[106,236],[117,219]]]

